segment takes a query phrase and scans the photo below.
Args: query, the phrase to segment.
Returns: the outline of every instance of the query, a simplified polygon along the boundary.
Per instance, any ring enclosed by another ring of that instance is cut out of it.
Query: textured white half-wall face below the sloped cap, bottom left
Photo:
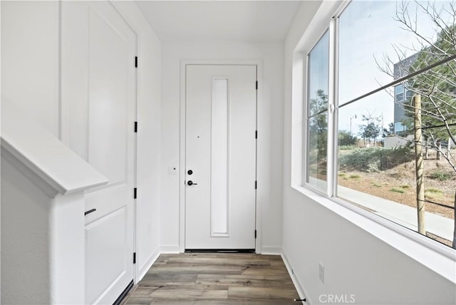
[[[33,304],[51,302],[51,272],[48,252],[46,249],[51,237],[49,234],[31,234],[31,232],[47,232],[49,198],[36,184],[18,172],[9,162],[1,158],[1,210],[4,219],[1,221],[1,302]],[[26,192],[18,187],[27,187]],[[17,209],[12,204],[20,200],[26,209]],[[8,215],[9,217],[5,217]],[[17,237],[14,229],[22,222],[24,237]],[[29,251],[29,247],[35,253]],[[21,267],[14,266],[14,263]],[[9,262],[9,264],[6,264]],[[31,272],[33,270],[33,272]],[[40,274],[36,276],[36,274]],[[29,291],[23,287],[29,286]]]

